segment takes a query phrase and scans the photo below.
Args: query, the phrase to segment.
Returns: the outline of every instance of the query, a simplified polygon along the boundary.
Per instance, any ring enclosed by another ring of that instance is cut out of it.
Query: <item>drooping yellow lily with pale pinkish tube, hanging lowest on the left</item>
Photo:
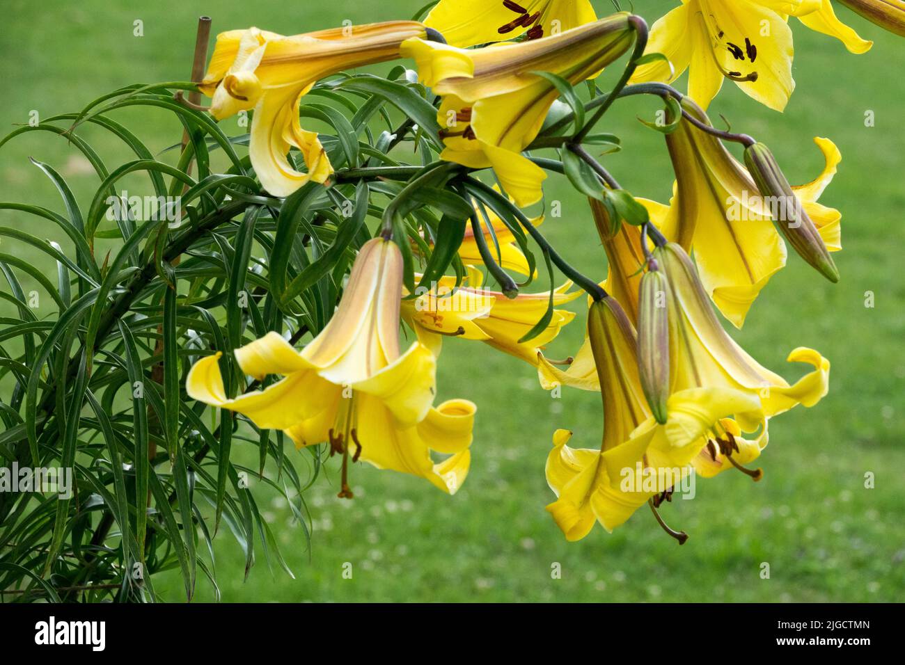
[[[403,259],[390,241],[361,248],[338,309],[302,351],[275,332],[236,349],[243,372],[282,375],[263,390],[227,398],[218,358],[202,358],[187,394],[286,432],[297,446],[329,442],[343,455],[340,497],[351,498],[348,457],[430,480],[454,493],[468,473],[475,405],[453,399],[433,407],[436,360],[414,342],[399,350]],[[432,451],[448,455],[434,461]]]

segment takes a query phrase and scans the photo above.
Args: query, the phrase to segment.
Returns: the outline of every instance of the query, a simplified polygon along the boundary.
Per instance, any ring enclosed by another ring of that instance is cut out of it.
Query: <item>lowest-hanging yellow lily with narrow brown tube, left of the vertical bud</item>
[[[595,522],[612,531],[651,499],[655,508],[691,473],[714,423],[757,409],[757,399],[738,390],[686,390],[672,394],[667,424],[660,425],[644,399],[637,339],[622,308],[611,297],[595,302],[587,328],[598,385],[604,386],[603,442],[600,450],[573,449],[566,445],[571,432],[557,430],[546,469],[557,495],[547,510],[570,541],[586,537]],[[657,482],[652,487],[643,476]],[[684,534],[663,527],[684,541]]]

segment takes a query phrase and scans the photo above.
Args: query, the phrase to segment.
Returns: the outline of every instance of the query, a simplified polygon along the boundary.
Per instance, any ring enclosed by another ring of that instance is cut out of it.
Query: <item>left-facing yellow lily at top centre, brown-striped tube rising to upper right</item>
[[[521,155],[557,99],[556,86],[534,71],[585,81],[622,55],[633,40],[631,14],[614,14],[554,36],[474,50],[410,39],[424,85],[443,96],[437,113],[446,161],[492,166],[519,207],[542,195],[544,170]]]

